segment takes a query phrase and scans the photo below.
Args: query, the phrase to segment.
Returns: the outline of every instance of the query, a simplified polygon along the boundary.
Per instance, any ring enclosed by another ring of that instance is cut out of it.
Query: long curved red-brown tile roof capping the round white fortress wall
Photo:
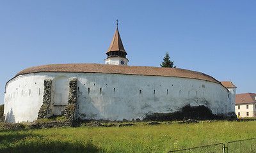
[[[28,73],[38,72],[69,72],[69,73],[113,73],[124,75],[149,75],[149,76],[164,76],[164,77],[180,77],[180,78],[193,78],[198,80],[205,80],[220,84],[218,80],[212,78],[204,73],[190,71],[187,69],[179,68],[159,68],[148,66],[119,66],[108,64],[49,64],[43,66],[35,66],[24,69],[17,73],[17,76]]]

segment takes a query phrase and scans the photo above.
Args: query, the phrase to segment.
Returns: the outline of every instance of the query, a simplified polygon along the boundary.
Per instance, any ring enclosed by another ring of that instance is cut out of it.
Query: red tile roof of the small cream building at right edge
[[[254,93],[236,94],[236,104],[256,103],[255,97]]]

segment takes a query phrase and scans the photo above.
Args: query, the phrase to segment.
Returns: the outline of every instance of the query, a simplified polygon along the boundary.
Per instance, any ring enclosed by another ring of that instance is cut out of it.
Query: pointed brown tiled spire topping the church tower
[[[110,44],[110,46],[108,48],[108,51],[106,53],[112,52],[112,51],[125,52],[124,46],[123,46],[119,31],[118,31],[118,20],[116,20],[116,32],[113,36],[111,44]],[[125,52],[125,54],[127,54],[127,53]]]

